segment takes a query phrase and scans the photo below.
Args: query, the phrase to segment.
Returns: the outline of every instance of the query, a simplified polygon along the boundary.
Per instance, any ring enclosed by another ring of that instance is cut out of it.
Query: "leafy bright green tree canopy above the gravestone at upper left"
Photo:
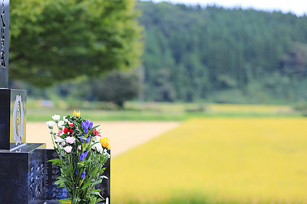
[[[37,86],[136,67],[142,50],[133,0],[15,0],[10,77]]]

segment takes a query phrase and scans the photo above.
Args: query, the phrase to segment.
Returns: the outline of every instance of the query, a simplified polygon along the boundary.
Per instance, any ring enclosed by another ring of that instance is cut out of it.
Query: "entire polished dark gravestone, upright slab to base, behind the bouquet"
[[[59,168],[47,162],[57,153],[46,149],[46,144],[26,143],[27,92],[8,88],[9,3],[0,0],[0,204],[59,203],[56,199],[67,198],[68,192],[56,188]],[[108,160],[105,164],[108,178],[109,166]],[[109,199],[109,179],[104,179],[96,189],[101,189]]]

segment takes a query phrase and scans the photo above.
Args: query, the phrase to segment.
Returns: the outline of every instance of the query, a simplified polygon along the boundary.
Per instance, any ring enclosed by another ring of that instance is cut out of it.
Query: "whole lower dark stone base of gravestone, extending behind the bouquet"
[[[108,153],[111,153],[108,149]],[[0,203],[2,204],[52,204],[57,199],[68,198],[66,188],[57,188],[54,182],[60,169],[48,160],[58,157],[46,144],[24,143],[12,151],[0,151]],[[110,178],[110,160],[103,173]],[[110,180],[96,186],[110,203]],[[105,203],[101,202],[101,203]]]

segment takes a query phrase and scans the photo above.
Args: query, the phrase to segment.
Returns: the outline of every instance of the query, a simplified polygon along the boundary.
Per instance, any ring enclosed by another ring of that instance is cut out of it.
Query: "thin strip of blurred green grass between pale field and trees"
[[[74,109],[65,105],[39,107],[39,101],[29,100],[28,121],[48,121],[53,114],[69,115]],[[137,103],[127,102],[124,110],[99,109],[99,103],[84,102],[82,115],[95,121],[183,121],[194,117],[297,117],[287,105],[198,104],[198,103]]]

